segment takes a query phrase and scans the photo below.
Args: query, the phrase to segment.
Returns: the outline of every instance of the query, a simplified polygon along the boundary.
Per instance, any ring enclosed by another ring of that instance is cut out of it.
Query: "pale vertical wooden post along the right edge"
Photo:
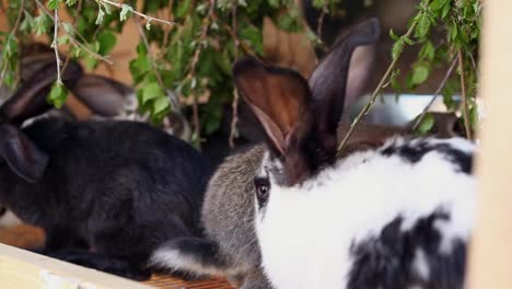
[[[479,198],[472,241],[472,289],[512,285],[512,1],[484,1],[481,90],[488,117],[477,160]]]

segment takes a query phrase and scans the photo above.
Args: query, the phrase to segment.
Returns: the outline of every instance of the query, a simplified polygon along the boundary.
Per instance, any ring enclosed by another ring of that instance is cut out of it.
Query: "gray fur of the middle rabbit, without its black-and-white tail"
[[[265,151],[258,144],[229,157],[210,180],[202,207],[207,236],[219,244],[220,253],[229,256],[232,266],[241,271],[241,288],[246,289],[271,288],[259,269],[261,255],[254,228],[253,180]]]

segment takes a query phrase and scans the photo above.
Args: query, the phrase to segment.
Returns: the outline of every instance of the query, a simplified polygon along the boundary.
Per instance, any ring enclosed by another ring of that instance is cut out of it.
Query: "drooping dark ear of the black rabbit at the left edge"
[[[0,155],[9,166],[27,182],[43,176],[49,157],[23,132],[11,125],[0,125]]]

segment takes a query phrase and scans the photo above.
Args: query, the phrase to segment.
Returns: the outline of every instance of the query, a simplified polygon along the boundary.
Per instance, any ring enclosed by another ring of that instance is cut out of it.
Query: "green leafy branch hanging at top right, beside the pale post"
[[[434,67],[452,62],[433,99],[444,89],[443,97],[446,107],[454,112],[462,111],[466,136],[472,138],[476,125],[475,115],[477,109],[475,102],[477,69],[475,69],[474,55],[478,53],[480,23],[481,3],[479,0],[422,0],[418,5],[417,14],[410,21],[409,30],[404,36],[398,37],[393,31],[389,32],[391,37],[395,41],[391,51],[393,61],[372,93],[370,102],[361,109],[341,140],[338,147],[338,155],[341,154],[358,123],[370,112],[380,91],[389,83],[396,91],[402,90],[402,84],[397,81],[400,71],[395,70],[395,66],[407,45],[421,45],[418,59],[411,65],[411,70],[406,76],[405,85],[410,90],[424,83]],[[433,43],[432,39],[431,32],[434,28],[445,34],[445,38],[439,43]],[[451,59],[456,59],[459,65],[458,79],[452,77],[455,62]],[[457,90],[454,81],[457,80],[462,93],[462,105],[459,107],[454,106],[452,99],[453,93]],[[430,105],[431,103],[429,103],[428,107]],[[421,129],[419,132],[428,132],[433,127],[432,119],[426,117],[427,115],[427,109],[424,109],[414,126],[416,129]]]

